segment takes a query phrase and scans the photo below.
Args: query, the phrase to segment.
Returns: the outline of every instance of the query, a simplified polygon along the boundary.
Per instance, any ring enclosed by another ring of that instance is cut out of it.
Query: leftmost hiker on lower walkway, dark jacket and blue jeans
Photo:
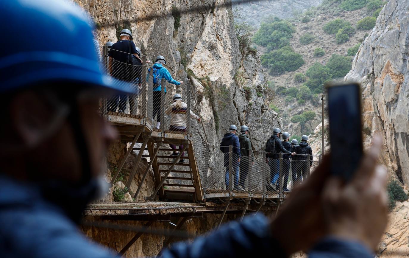
[[[239,190],[238,188],[238,176],[239,176],[239,165],[240,165],[240,141],[236,136],[237,127],[236,125],[232,124],[229,127],[229,132],[223,136],[222,142],[220,143],[220,150],[225,154],[223,165],[226,167],[226,174],[225,174],[225,185],[226,189],[229,190],[229,146],[233,147],[232,154],[231,154],[231,164],[233,167],[233,171],[231,174],[234,176],[234,190]]]

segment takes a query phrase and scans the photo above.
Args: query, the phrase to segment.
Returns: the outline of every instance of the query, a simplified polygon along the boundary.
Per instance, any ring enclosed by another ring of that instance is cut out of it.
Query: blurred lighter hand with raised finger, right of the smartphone
[[[328,233],[357,240],[375,251],[387,225],[387,172],[378,166],[380,140],[375,138],[351,182],[339,178],[326,183],[322,201]]]

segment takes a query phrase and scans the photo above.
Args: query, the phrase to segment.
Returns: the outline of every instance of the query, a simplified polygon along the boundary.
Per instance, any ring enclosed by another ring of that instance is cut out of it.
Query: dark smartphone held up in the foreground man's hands
[[[353,177],[360,164],[362,118],[360,84],[328,84],[328,115],[330,130],[330,171],[344,178]]]

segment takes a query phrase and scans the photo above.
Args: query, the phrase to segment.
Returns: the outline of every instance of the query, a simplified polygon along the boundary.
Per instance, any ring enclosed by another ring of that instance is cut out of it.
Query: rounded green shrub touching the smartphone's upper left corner
[[[322,93],[324,84],[331,79],[329,69],[321,63],[313,64],[306,71],[306,75],[309,78],[308,81],[306,81],[306,86],[308,86],[313,93]]]

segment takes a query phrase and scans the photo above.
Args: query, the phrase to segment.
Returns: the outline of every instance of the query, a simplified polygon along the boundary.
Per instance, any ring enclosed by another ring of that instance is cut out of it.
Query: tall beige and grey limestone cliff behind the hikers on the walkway
[[[135,45],[148,60],[158,54],[177,80],[193,81],[211,145],[218,145],[230,124],[247,124],[253,144],[260,149],[281,118],[267,105],[269,93],[257,54],[239,45],[233,27],[231,6],[200,9],[187,14],[150,14],[211,6],[211,0],[74,0],[89,11],[97,24],[97,39],[103,45],[117,41],[117,30],[133,32]],[[223,4],[216,1],[216,6]],[[174,27],[175,18],[180,27]],[[170,85],[171,95],[182,86]],[[272,96],[271,96],[272,97]]]

